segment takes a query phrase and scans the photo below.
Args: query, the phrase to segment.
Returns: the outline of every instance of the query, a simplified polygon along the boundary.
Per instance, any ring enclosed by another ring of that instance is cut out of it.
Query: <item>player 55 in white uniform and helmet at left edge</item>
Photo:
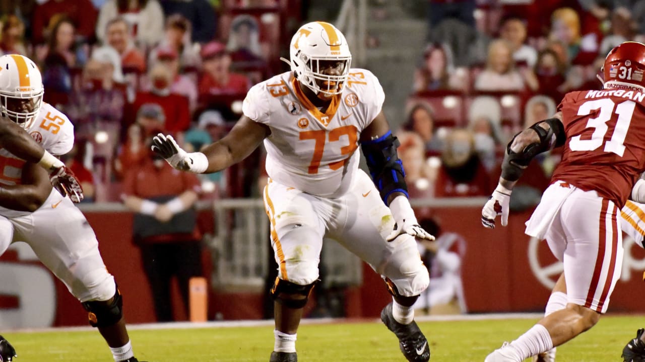
[[[74,144],[74,126],[63,113],[42,102],[43,81],[34,62],[22,55],[3,55],[0,69],[3,117],[24,128],[27,138],[52,155],[68,153]],[[123,319],[121,293],[106,270],[94,231],[83,213],[52,189],[42,167],[6,147],[0,148],[0,190],[0,254],[12,242],[28,243],[81,301],[90,325],[97,327],[108,343],[114,360],[136,362]],[[78,196],[82,199],[83,195]]]

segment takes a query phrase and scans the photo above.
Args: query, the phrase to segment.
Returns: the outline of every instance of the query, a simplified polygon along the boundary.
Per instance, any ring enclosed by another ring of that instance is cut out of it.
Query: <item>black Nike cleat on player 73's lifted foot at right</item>
[[[430,361],[428,339],[417,326],[417,322],[412,321],[410,324],[397,322],[392,315],[392,303],[386,305],[381,311],[381,320],[399,338],[399,347],[408,361]]]

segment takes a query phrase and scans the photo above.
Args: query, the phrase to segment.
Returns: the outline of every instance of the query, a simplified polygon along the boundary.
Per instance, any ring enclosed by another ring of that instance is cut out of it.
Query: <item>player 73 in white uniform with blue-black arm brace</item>
[[[186,153],[172,136],[153,149],[176,169],[220,171],[266,147],[264,204],[279,276],[270,361],[297,361],[296,331],[318,280],[323,238],[333,238],[381,274],[393,295],[381,319],[408,361],[428,361],[428,341],[412,305],[428,286],[415,237],[433,240],[408,202],[397,138],[381,107],[384,93],[368,70],[350,68],[345,37],[332,24],[304,24],[290,45],[291,71],[246,95],[244,115],[222,140]],[[372,179],[358,167],[361,146]],[[389,208],[386,206],[389,205]]]

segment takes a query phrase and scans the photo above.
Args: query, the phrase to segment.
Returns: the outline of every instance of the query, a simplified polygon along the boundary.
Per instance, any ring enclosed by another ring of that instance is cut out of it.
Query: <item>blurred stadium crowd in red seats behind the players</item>
[[[219,139],[246,91],[283,71],[297,0],[3,0],[1,53],[32,57],[45,101],[74,122],[66,162],[87,200],[117,201],[148,141]],[[599,88],[604,55],[645,36],[643,0],[428,1],[428,46],[398,132],[413,197],[487,196],[510,137],[567,91]],[[631,10],[628,10],[631,9]],[[529,15],[530,14],[530,15]],[[515,208],[535,205],[559,155],[531,164]],[[203,175],[200,197],[257,195],[260,152]],[[519,191],[519,190],[518,190]],[[516,194],[514,194],[516,195]]]

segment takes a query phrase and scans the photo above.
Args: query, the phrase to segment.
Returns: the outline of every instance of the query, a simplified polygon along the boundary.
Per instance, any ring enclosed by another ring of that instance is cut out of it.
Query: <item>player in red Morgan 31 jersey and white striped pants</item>
[[[645,171],[645,44],[622,43],[607,55],[604,89],[573,91],[557,113],[518,133],[506,149],[499,185],[482,209],[482,224],[508,224],[511,191],[535,155],[564,146],[551,185],[526,222],[564,264],[566,308],[486,357],[521,362],[590,329],[606,312],[620,277],[620,208]],[[635,200],[641,202],[641,200]]]

